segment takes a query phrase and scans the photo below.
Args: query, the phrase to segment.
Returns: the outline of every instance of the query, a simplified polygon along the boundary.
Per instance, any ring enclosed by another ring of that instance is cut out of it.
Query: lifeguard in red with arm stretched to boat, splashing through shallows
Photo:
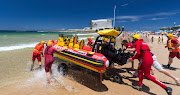
[[[44,65],[45,65],[45,72],[46,72],[47,79],[49,81],[49,84],[51,84],[52,83],[52,80],[51,80],[51,74],[52,74],[51,66],[52,66],[52,64],[54,62],[53,53],[54,53],[54,51],[63,51],[66,48],[56,49],[56,48],[52,47],[52,45],[53,45],[52,42],[48,42],[47,45],[48,46],[46,47],[46,49],[44,51],[44,54],[45,54]]]

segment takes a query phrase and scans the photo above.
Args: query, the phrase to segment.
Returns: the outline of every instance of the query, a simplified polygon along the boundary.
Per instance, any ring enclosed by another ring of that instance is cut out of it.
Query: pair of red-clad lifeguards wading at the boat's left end
[[[41,64],[42,64],[41,63],[41,55],[42,55],[42,57],[45,57],[44,58],[44,66],[45,66],[46,76],[47,76],[49,84],[51,84],[52,83],[52,80],[51,80],[51,74],[52,74],[51,66],[52,66],[52,64],[54,62],[53,53],[54,53],[54,51],[59,51],[59,52],[63,51],[66,48],[60,48],[60,49],[54,48],[53,44],[57,44],[57,41],[56,40],[49,40],[46,43],[46,48],[45,48],[44,54],[43,54],[43,48],[44,48],[45,43],[46,43],[45,41],[41,41],[35,46],[34,51],[33,51],[32,64],[31,64],[30,71],[33,70],[34,61],[35,61],[36,58],[37,58],[37,60],[39,62],[39,69],[41,69]]]

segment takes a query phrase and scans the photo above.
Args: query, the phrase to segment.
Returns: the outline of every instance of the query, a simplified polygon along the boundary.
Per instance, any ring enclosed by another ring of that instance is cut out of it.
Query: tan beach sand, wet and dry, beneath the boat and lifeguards
[[[151,38],[148,37],[149,39]],[[151,51],[157,56],[161,65],[168,62],[168,50],[164,48],[164,43],[157,43],[158,36],[154,36],[154,43],[148,43]],[[120,39],[117,39],[117,46],[120,47]],[[133,89],[132,84],[138,83],[138,78],[132,76],[126,71],[131,67],[131,63],[123,66],[116,65],[119,72],[124,77],[123,84],[118,84],[110,80],[104,80],[102,83],[96,81],[88,73],[74,71],[76,76],[62,77],[56,71],[56,64],[53,64],[54,83],[48,85],[45,71],[29,71],[33,48],[0,52],[0,93],[1,95],[167,95],[165,90],[155,83],[144,79],[143,91]],[[44,60],[44,58],[42,58]],[[43,63],[43,62],[42,62]],[[138,61],[135,61],[135,68]],[[166,69],[176,77],[180,77],[180,64],[177,58],[174,58],[171,70]],[[37,68],[37,61],[35,68]],[[130,71],[133,72],[133,71]],[[157,79],[172,87],[173,95],[180,95],[180,87],[164,74],[154,70]]]

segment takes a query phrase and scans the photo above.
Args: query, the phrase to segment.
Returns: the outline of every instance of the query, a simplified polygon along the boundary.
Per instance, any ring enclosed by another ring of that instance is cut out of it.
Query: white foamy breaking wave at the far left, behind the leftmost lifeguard
[[[18,45],[14,45],[14,46],[0,47],[0,51],[10,51],[10,50],[17,50],[17,49],[24,49],[24,48],[35,47],[35,45],[37,43],[38,42],[29,43],[29,44],[18,44]]]

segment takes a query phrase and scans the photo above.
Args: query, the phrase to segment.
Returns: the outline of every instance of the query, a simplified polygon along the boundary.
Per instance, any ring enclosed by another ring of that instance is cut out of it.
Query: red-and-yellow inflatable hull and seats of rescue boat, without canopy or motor
[[[55,48],[67,48],[62,52],[55,52],[55,55],[65,61],[74,63],[85,69],[100,73],[104,73],[109,67],[109,60],[100,53],[92,52],[91,47],[84,46],[84,40],[78,42],[78,37],[72,39],[69,36],[60,35]]]

